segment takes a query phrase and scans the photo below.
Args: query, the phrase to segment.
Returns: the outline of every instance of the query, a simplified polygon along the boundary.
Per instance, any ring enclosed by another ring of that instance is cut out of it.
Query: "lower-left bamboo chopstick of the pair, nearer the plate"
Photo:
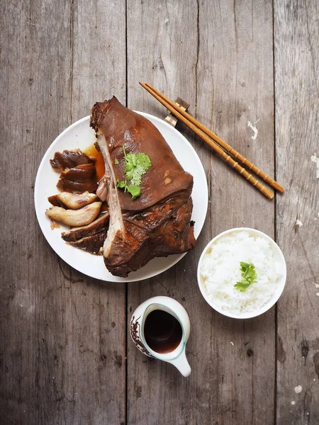
[[[177,118],[179,118],[179,120],[181,120],[185,125],[187,125],[187,127],[189,127],[191,130],[193,130],[194,133],[196,133],[196,135],[198,135],[198,137],[201,137],[201,139],[204,142],[206,142],[206,144],[208,146],[210,146],[218,155],[220,155],[220,157],[222,157],[225,160],[225,162],[230,164],[230,166],[232,166],[236,171],[238,171],[239,174],[242,174],[242,176],[244,176],[247,181],[252,183],[252,185],[255,188],[257,188],[260,192],[262,192],[262,194],[264,196],[266,196],[266,198],[268,198],[268,199],[274,198],[274,193],[272,193],[267,188],[265,188],[265,186],[263,186],[257,179],[254,179],[252,174],[248,173],[245,170],[245,168],[243,168],[237,162],[235,162],[234,159],[232,157],[230,157],[230,155],[226,154],[225,151],[216,142],[211,140],[202,130],[200,130],[198,127],[196,127],[196,125],[191,123],[190,120],[185,118],[184,115],[181,115],[181,113],[179,111],[177,111],[177,108],[174,108],[173,106],[169,105],[169,103],[167,103],[167,101],[164,101],[164,99],[162,99],[158,94],[156,94],[155,91],[150,89],[150,87],[146,86],[146,84],[140,82],[140,85],[145,90],[147,90],[150,94],[152,94],[152,96],[154,96],[157,99],[157,101],[162,103],[162,105],[165,106],[165,108],[167,108]]]

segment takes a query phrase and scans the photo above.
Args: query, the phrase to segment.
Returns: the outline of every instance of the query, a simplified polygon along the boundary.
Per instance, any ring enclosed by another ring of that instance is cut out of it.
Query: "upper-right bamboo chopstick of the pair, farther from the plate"
[[[177,105],[176,105],[176,103],[172,102],[169,98],[167,98],[166,96],[164,96],[164,94],[162,94],[160,91],[158,91],[157,89],[155,89],[154,87],[152,87],[150,84],[146,83],[145,85],[147,87],[149,87],[150,89],[152,89],[152,91],[154,91],[155,94],[157,94],[157,96],[159,96],[164,101],[166,101],[167,103],[169,103],[170,106],[173,106],[173,108],[175,108],[175,109],[178,108]],[[213,139],[215,142],[217,142],[218,145],[220,145],[227,152],[229,152],[230,154],[232,154],[235,157],[235,159],[237,159],[242,164],[245,164],[248,169],[250,169],[251,171],[254,172],[254,174],[256,174],[257,176],[259,176],[262,180],[266,181],[266,183],[268,183],[269,186],[272,186],[272,188],[274,188],[276,191],[279,191],[280,193],[284,191],[283,186],[281,186],[279,183],[277,183],[276,181],[274,181],[274,179],[272,179],[267,174],[265,174],[264,171],[262,171],[261,169],[259,169],[257,166],[255,166],[254,164],[252,164],[252,162],[250,162],[247,158],[243,157],[239,152],[237,152],[235,149],[233,149],[233,147],[231,147],[230,145],[228,145],[227,142],[225,142],[224,140],[220,139],[220,137],[218,137],[218,135],[216,135],[215,133],[213,133],[211,130],[208,130],[208,128],[206,128],[203,124],[201,124],[198,120],[196,120],[196,118],[194,118],[192,115],[190,115],[189,113],[187,113],[186,111],[184,111],[181,108],[178,109],[178,112],[181,113],[181,115],[183,115],[189,121],[191,121],[191,123],[193,123],[194,125],[196,125],[206,135],[208,135],[209,137],[211,137],[211,139]]]

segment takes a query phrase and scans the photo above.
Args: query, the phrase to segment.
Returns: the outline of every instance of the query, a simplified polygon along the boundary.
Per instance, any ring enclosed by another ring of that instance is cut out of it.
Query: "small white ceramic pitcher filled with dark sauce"
[[[189,315],[170,297],[152,297],[133,312],[130,336],[146,356],[172,363],[181,375],[191,373],[185,355],[190,331]]]

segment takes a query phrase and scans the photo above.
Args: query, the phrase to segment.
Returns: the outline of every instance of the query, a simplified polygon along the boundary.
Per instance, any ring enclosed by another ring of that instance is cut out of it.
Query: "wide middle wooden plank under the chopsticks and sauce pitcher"
[[[191,113],[274,174],[271,1],[155,6],[129,0],[128,106],[164,118],[166,111],[140,89],[140,79],[189,101]],[[258,119],[258,137],[251,140],[247,121]],[[180,128],[209,179],[206,225],[196,249],[171,271],[129,285],[128,314],[153,295],[179,300],[191,319],[187,348],[193,371],[182,378],[172,365],[147,360],[129,341],[128,423],[272,424],[274,309],[245,322],[220,316],[201,298],[196,265],[208,240],[222,230],[243,225],[273,236],[274,203]]]

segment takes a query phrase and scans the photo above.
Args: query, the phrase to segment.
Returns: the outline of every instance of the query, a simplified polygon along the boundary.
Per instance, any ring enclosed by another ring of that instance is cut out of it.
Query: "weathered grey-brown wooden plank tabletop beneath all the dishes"
[[[11,0],[1,11],[0,423],[318,425],[318,1]],[[286,190],[267,200],[179,125],[209,184],[196,249],[150,280],[104,283],[50,249],[35,174],[95,101],[114,94],[164,118],[140,80],[189,101]],[[203,247],[238,226],[286,256],[284,294],[257,319],[214,312],[196,283]],[[153,295],[189,312],[189,378],[130,340],[130,313]]]

